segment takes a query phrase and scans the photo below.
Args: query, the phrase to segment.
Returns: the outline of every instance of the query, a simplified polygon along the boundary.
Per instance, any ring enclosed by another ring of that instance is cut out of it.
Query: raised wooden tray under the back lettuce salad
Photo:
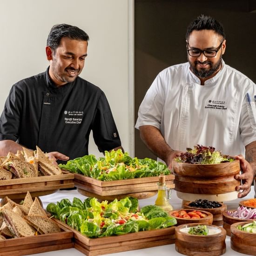
[[[64,171],[70,173],[68,171]],[[166,175],[165,182],[168,188],[174,189],[174,175]],[[94,193],[96,195],[122,195],[156,191],[158,189],[159,177],[145,177],[111,182],[102,182],[81,174],[74,173],[74,184],[78,189]]]

